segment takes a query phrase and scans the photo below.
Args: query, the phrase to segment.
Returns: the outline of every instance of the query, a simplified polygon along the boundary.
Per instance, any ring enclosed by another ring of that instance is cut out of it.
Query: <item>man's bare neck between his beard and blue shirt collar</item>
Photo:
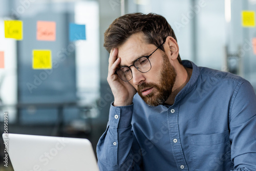
[[[186,67],[180,67],[180,69],[176,69],[177,72],[177,77],[176,77],[176,82],[174,84],[172,94],[168,97],[168,99],[165,101],[166,104],[168,105],[173,105],[175,102],[175,97],[177,94],[186,86],[188,83],[191,75],[192,75],[192,69],[186,68]],[[179,73],[179,76],[178,76]]]

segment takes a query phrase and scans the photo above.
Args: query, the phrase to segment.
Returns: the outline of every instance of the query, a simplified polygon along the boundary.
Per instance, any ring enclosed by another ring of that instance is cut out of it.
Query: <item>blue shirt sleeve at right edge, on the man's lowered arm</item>
[[[237,86],[231,104],[229,137],[234,170],[256,170],[256,96],[249,82]]]

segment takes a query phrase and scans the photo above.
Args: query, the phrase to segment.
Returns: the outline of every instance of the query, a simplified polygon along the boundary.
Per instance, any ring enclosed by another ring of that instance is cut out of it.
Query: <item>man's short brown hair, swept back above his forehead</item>
[[[176,41],[172,27],[167,20],[158,14],[133,13],[118,17],[104,33],[104,47],[110,52],[112,48],[121,46],[132,34],[143,32],[148,43],[160,46],[167,36]],[[164,51],[161,46],[160,49]],[[181,63],[180,55],[178,61]]]

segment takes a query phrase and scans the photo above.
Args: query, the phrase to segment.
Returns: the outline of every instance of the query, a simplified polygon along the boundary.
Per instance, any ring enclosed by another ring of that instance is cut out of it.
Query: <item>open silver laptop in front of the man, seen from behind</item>
[[[88,139],[23,134],[3,134],[3,139],[14,171],[99,170]]]

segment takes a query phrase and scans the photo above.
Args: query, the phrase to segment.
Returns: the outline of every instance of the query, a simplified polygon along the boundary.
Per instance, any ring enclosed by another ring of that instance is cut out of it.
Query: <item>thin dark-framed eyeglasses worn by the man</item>
[[[162,46],[164,44],[164,42],[160,45]],[[160,46],[158,48],[160,48]],[[156,52],[158,50],[158,48],[154,51]],[[154,53],[152,52],[152,54]],[[152,54],[147,55],[147,56],[142,56],[139,57],[138,59],[136,59],[133,62],[133,65],[131,66],[123,66],[119,69],[116,70],[116,74],[118,75],[118,77],[123,80],[123,81],[130,81],[133,78],[133,73],[131,70],[131,67],[134,66],[138,71],[142,72],[142,73],[146,73],[148,71],[151,70],[151,62],[150,59],[148,59]]]

